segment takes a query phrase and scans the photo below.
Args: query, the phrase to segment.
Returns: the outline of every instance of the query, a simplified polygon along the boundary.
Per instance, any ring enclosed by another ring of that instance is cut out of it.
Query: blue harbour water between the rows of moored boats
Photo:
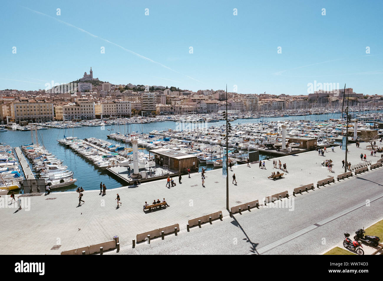
[[[328,120],[330,118],[340,118],[340,114],[322,114],[322,115],[306,115],[306,116],[289,116],[289,117],[273,117],[273,118],[260,118],[260,119],[237,119],[232,121],[231,124],[237,125],[238,123],[259,123],[270,122],[270,121],[284,121],[284,120]],[[223,125],[226,122],[220,120],[219,122],[207,123],[208,126],[219,126]],[[131,124],[129,125],[129,132],[138,131],[139,133],[149,133],[152,130],[166,130],[166,129],[175,129],[176,123],[173,121],[165,122],[155,122],[149,124]],[[114,131],[108,131],[108,128],[114,128]],[[95,137],[102,140],[108,140],[106,135],[109,135],[111,132],[121,132],[124,133],[128,129],[124,126],[118,126],[117,128],[113,126],[106,127],[86,127],[68,129],[65,132],[65,136],[77,136],[78,138],[90,138]],[[93,165],[93,162],[88,161],[81,155],[77,155],[70,148],[67,148],[64,145],[61,145],[57,142],[57,139],[62,139],[64,137],[64,130],[56,128],[48,128],[47,130],[38,130],[39,144],[44,143],[46,149],[48,149],[52,154],[56,155],[58,159],[64,161],[64,165],[68,166],[68,169],[74,171],[74,178],[77,179],[75,185],[72,185],[67,188],[61,188],[57,192],[62,191],[73,191],[77,187],[83,187],[85,190],[97,190],[100,187],[100,182],[106,185],[107,188],[116,188],[126,185],[124,181],[119,180],[118,178],[112,177],[109,172],[103,169],[99,169]],[[126,143],[121,143],[116,140],[108,140],[111,143],[128,146]],[[31,143],[31,132],[30,131],[12,131],[0,133],[0,142],[10,145],[12,147],[21,146]],[[33,141],[35,142],[35,141]],[[265,159],[266,157],[273,158],[270,155],[260,154],[260,159]],[[213,169],[212,165],[209,166],[200,166]]]

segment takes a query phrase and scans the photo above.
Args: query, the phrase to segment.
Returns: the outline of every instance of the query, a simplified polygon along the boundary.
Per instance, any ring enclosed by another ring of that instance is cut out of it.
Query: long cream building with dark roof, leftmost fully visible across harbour
[[[15,122],[47,122],[54,119],[53,103],[48,102],[12,101],[8,113]]]

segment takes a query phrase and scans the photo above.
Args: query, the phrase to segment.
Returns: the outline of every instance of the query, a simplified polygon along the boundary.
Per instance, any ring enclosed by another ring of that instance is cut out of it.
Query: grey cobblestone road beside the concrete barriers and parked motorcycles
[[[353,234],[383,218],[382,184],[381,173],[372,172],[297,195],[293,211],[260,207],[134,249],[123,247],[118,254],[319,254],[342,240],[344,232]],[[301,234],[302,229],[308,230]],[[283,241],[288,236],[295,238]],[[277,246],[268,246],[275,241]]]

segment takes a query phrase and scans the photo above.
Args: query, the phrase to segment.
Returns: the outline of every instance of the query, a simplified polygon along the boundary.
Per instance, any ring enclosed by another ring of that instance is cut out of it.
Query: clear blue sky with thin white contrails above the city
[[[317,81],[382,93],[381,0],[3,1],[1,8],[0,89],[45,89],[92,67],[110,83],[193,91],[227,83],[229,92],[237,85],[245,94],[307,94]]]

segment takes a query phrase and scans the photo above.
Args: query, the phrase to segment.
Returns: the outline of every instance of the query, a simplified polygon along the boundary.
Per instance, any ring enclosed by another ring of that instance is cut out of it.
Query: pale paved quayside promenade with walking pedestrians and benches
[[[352,165],[362,162],[360,161],[360,153],[368,155],[368,151],[363,149],[362,145],[361,148],[356,148],[355,145],[349,146],[348,161]],[[253,200],[262,202],[265,196],[285,190],[292,194],[293,189],[301,185],[310,183],[316,185],[318,180],[329,176],[336,178],[337,174],[344,172],[344,169],[341,168],[344,152],[339,147],[336,147],[336,152],[331,152],[330,148],[327,151],[325,156],[318,156],[318,152],[311,151],[277,158],[277,160],[282,161],[282,164],[287,164],[288,173],[285,173],[282,179],[275,181],[267,178],[272,171],[277,172],[277,169],[273,169],[273,159],[265,161],[266,169],[260,169],[258,164],[250,164],[251,167],[246,167],[246,164],[234,166],[233,171],[229,172],[229,207]],[[333,161],[333,171],[335,172],[331,173],[327,170],[327,167],[321,166],[324,159]],[[367,160],[372,160],[375,163],[378,157],[367,156]],[[380,175],[382,169],[379,168],[362,174],[358,179]],[[237,185],[232,184],[231,176],[233,173],[236,174]],[[0,209],[3,220],[3,227],[0,230],[3,238],[0,242],[0,253],[59,254],[63,250],[105,242],[116,235],[119,236],[121,247],[125,249],[131,244],[132,239],[135,239],[136,234],[176,223],[180,224],[181,229],[180,235],[177,237],[189,236],[190,234],[185,230],[189,219],[216,211],[222,211],[225,216],[224,223],[229,222],[232,225],[231,218],[229,219],[228,212],[225,210],[226,178],[222,177],[222,170],[208,171],[205,175],[205,187],[201,185],[201,174],[195,173],[191,174],[190,179],[187,175],[183,175],[182,184],[178,184],[178,178],[175,178],[174,181],[177,186],[172,188],[165,187],[166,180],[159,180],[143,183],[137,187],[120,187],[113,190],[111,189],[113,187],[107,187],[105,196],[99,195],[98,190],[85,191],[82,198],[85,203],[80,206],[78,206],[78,193],[76,192],[54,192],[47,196],[28,197],[30,198],[29,211],[24,208],[16,212],[17,207],[9,208],[16,204]],[[347,187],[349,183],[357,181],[357,179],[347,179],[331,184],[329,187],[321,188],[318,191],[326,194],[329,202],[333,202],[330,210],[336,213],[336,210],[339,209],[336,202],[341,200],[344,195],[342,193],[332,194],[328,193],[328,191],[341,185]],[[374,185],[370,181],[363,181],[363,183],[369,188],[370,185]],[[94,184],[97,187],[100,183],[95,182]],[[379,185],[379,188],[381,188],[381,185]],[[381,189],[380,192],[382,192]],[[119,208],[116,207],[116,193],[119,193],[121,197],[122,206],[119,206]],[[310,192],[309,196],[312,193],[314,191]],[[377,193],[379,192],[377,191]],[[164,197],[170,207],[151,213],[142,211],[145,201],[150,204],[154,199],[162,200]],[[307,197],[307,195],[300,195],[300,197]],[[298,199],[299,196],[296,198]],[[307,201],[304,204],[306,204],[306,208],[309,206],[313,210],[311,220],[314,221],[316,212],[321,209],[322,205],[316,205],[312,201]],[[251,214],[255,214],[257,211],[255,209]],[[280,211],[286,212],[283,209],[280,209]],[[298,213],[289,212],[288,210],[287,212],[287,214]],[[241,227],[258,225],[261,229],[264,229],[265,235],[268,232],[280,233],[285,229],[282,225],[275,223],[277,218],[283,218],[283,215],[261,217],[258,222],[254,222],[252,218],[248,217],[246,225],[241,225]],[[299,218],[299,215],[296,218],[291,218],[290,223]],[[207,227],[218,227],[216,225],[222,223],[220,221],[214,222],[213,226],[208,225]],[[204,226],[205,228],[206,226]],[[298,228],[297,225],[297,230]],[[194,231],[194,229],[192,230]],[[12,247],[9,247],[10,241],[12,241]],[[215,241],[214,243],[216,244],[214,247],[219,248],[221,242]],[[59,249],[51,250],[57,244],[61,245]],[[137,247],[143,244],[145,243],[138,244]],[[184,248],[184,245],[182,247]],[[196,253],[204,252],[204,249],[198,248],[198,245],[193,246],[193,249],[197,251]],[[187,249],[184,250],[187,251]]]

